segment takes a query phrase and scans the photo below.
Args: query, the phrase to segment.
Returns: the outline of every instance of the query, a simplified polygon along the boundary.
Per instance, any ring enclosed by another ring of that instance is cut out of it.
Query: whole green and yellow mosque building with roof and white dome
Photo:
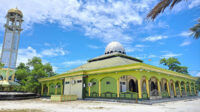
[[[105,53],[65,73],[39,79],[41,95],[77,95],[79,99],[161,99],[196,95],[196,78],[143,63],[126,55],[119,42]]]

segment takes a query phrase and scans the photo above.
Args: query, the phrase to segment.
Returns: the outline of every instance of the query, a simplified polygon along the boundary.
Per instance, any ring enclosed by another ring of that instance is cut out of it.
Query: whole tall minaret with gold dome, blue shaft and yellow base
[[[7,21],[4,25],[5,34],[0,59],[0,62],[4,64],[4,67],[0,68],[0,91],[8,91],[13,86],[19,85],[14,81],[14,77],[20,33],[22,31],[22,18],[23,14],[17,8],[8,10],[6,15]]]

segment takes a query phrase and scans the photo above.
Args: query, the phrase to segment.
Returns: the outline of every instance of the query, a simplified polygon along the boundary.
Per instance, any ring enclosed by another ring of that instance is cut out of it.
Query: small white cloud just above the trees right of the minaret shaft
[[[51,48],[51,49],[45,49],[41,52],[42,56],[63,56],[66,53],[68,53],[67,51],[63,50],[63,48]]]

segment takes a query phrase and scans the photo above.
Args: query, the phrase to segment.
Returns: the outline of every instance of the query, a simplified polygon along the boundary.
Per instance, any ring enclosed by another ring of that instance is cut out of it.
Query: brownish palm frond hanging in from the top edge
[[[161,12],[164,12],[165,8],[170,4],[170,9],[182,0],[161,0],[147,15],[147,18],[154,20]]]

